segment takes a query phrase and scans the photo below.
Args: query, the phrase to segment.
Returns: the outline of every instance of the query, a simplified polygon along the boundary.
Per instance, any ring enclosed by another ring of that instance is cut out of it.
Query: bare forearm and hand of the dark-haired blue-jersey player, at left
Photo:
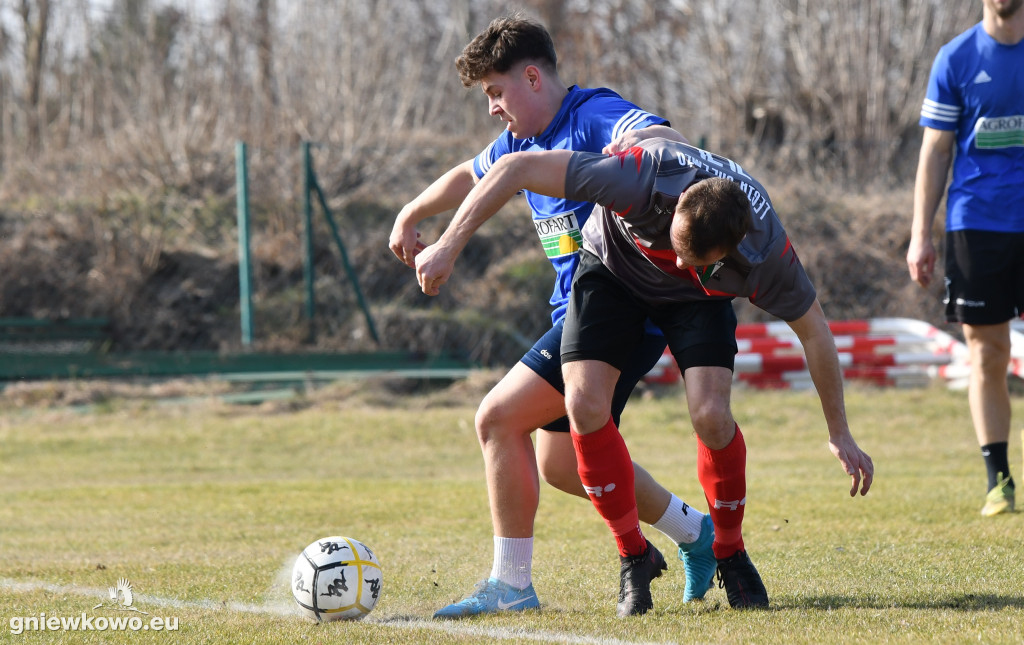
[[[402,207],[395,217],[388,248],[395,257],[416,268],[416,255],[423,250],[417,224],[444,211],[459,208],[476,183],[473,160],[465,161],[437,178]]]

